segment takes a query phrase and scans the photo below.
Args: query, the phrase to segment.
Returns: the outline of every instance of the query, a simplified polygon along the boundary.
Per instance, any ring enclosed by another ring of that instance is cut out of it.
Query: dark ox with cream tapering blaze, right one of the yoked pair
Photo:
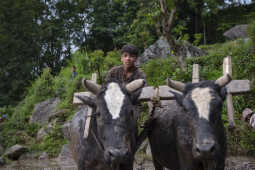
[[[156,170],[224,170],[226,136],[221,120],[225,88],[231,78],[183,84],[169,80],[176,101],[156,108],[149,133]]]

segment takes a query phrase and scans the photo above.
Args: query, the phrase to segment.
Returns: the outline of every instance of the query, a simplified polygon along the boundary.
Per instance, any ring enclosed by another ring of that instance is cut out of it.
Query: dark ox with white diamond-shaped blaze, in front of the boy
[[[88,107],[83,106],[72,122],[72,152],[78,169],[132,170],[137,133],[133,93],[139,91],[144,81],[135,80],[125,87],[109,82],[101,88],[89,80],[83,84],[96,97],[80,98],[93,108],[87,139],[83,134]]]

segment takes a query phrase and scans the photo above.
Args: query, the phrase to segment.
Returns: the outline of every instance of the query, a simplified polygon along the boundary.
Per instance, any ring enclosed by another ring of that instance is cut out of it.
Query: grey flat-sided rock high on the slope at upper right
[[[224,36],[229,38],[230,40],[238,39],[238,38],[247,38],[247,26],[248,25],[236,25],[231,29],[224,32]]]

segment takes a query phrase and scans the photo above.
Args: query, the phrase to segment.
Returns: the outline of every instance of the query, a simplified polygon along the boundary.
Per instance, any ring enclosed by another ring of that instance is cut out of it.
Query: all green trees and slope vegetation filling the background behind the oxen
[[[254,85],[254,8],[254,4],[240,1],[211,0],[0,1],[0,109],[7,113],[7,120],[0,123],[0,143],[4,148],[23,144],[30,152],[56,156],[67,142],[60,127],[77,111],[72,106],[73,94],[85,90],[80,80],[96,72],[98,83],[103,83],[107,71],[121,63],[120,48],[126,43],[135,44],[141,53],[160,36],[171,35],[167,36],[170,44],[174,39],[180,45],[187,40],[207,52],[186,59],[185,71],[174,56],[144,64],[142,69],[152,86],[165,84],[168,77],[191,81],[194,63],[200,65],[202,80],[215,80],[222,75],[222,61],[228,55],[232,56],[233,79],[249,79]],[[164,22],[174,10],[174,19],[167,26]],[[249,40],[222,43],[224,31],[247,23]],[[74,46],[79,50],[72,54]],[[77,68],[74,79],[73,65]],[[254,96],[252,86],[249,94],[233,98],[237,128],[227,131],[229,154],[255,155],[254,131],[240,120],[244,108],[255,109]],[[51,120],[53,130],[38,142],[38,130],[47,125],[29,123],[30,116],[37,103],[55,97],[61,101],[57,110],[66,112],[61,121]],[[147,109],[144,106],[140,124]],[[227,127],[225,107],[222,117]]]

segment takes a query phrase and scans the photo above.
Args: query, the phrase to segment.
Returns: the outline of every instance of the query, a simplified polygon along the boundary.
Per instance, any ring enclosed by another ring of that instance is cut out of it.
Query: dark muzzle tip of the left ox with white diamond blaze
[[[105,160],[107,163],[122,163],[128,159],[129,152],[128,149],[114,149],[109,148],[106,149],[105,153]]]

